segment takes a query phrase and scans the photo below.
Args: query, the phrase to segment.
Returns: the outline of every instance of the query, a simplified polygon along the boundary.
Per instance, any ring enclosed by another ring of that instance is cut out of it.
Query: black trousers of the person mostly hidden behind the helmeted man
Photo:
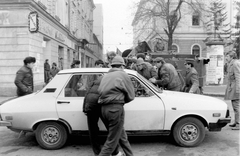
[[[101,107],[89,111],[87,113],[87,122],[88,122],[88,130],[89,130],[89,138],[92,145],[92,150],[95,155],[98,155],[101,152],[101,142],[99,138],[99,127],[98,120],[101,117]],[[112,152],[113,155],[117,155],[119,152],[119,146],[115,148]]]

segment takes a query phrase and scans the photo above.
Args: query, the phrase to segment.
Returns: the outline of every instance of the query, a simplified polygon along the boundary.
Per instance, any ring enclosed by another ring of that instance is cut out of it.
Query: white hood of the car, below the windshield
[[[178,108],[181,108],[180,106],[182,106],[184,109],[198,110],[227,109],[227,104],[223,100],[206,95],[163,91],[163,93],[160,94],[160,97],[164,103],[170,107],[178,106]]]

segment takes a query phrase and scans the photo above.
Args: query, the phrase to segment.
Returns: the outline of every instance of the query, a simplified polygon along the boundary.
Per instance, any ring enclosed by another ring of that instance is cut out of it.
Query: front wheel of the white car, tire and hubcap
[[[173,138],[178,145],[183,147],[198,146],[205,138],[205,127],[197,118],[183,118],[175,124]]]

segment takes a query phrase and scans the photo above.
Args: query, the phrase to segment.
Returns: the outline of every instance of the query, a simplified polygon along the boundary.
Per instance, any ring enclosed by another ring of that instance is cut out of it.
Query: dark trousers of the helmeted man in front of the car
[[[107,139],[99,156],[110,156],[118,143],[126,156],[133,156],[127,134],[123,128],[124,108],[122,104],[102,105],[102,120],[108,129]]]

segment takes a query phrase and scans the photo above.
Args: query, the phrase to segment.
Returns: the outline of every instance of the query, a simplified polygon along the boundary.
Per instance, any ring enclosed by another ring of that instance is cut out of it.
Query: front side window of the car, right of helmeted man
[[[149,97],[154,95],[153,92],[137,78],[133,76],[130,76],[130,78],[134,86],[135,97]]]

